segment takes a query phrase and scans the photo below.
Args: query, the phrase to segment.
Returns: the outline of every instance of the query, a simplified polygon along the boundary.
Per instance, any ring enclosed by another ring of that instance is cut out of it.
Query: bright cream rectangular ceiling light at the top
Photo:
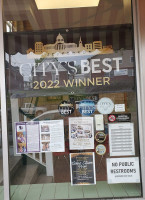
[[[38,9],[96,7],[100,0],[35,0]]]

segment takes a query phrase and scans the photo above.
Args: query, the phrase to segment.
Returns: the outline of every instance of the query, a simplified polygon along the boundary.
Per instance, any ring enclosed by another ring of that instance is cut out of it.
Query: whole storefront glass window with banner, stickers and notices
[[[142,196],[127,2],[4,1],[13,200]]]

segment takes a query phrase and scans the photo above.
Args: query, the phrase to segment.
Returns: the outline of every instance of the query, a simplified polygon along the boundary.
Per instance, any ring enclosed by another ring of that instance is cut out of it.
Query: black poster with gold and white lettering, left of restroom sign
[[[71,185],[96,184],[94,153],[70,154]]]

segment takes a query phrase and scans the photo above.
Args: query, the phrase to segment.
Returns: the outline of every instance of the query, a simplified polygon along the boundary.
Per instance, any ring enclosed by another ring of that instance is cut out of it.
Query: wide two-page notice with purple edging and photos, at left
[[[17,122],[16,153],[64,152],[63,120]]]

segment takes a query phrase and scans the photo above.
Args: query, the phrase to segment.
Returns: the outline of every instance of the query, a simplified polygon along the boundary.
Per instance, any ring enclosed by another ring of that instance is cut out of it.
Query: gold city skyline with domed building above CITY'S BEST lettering
[[[112,45],[103,46],[102,41],[93,41],[92,43],[83,44],[80,37],[78,44],[66,43],[59,33],[54,44],[43,44],[35,42],[35,49],[29,48],[27,54],[34,53],[40,55],[45,53],[46,57],[66,56],[67,54],[106,54],[113,53]],[[43,56],[44,57],[44,56]]]

